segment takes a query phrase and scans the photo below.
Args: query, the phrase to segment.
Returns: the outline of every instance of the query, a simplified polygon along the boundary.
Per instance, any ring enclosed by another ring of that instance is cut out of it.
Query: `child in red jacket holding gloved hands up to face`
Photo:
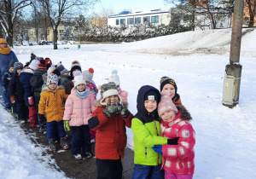
[[[133,115],[122,105],[122,99],[115,84],[103,84],[102,99],[92,113],[88,124],[96,132],[96,166],[97,178],[122,178],[127,142],[126,127],[131,128]]]

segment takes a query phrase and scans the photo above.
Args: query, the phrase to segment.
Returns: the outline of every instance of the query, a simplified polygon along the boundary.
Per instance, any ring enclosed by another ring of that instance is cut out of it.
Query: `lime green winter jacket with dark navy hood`
[[[149,90],[156,90],[152,86],[143,86],[137,95],[138,113],[131,120],[131,130],[134,141],[134,164],[136,165],[160,165],[162,157],[155,153],[154,145],[167,144],[167,138],[160,136],[160,121],[158,120],[157,110],[148,113],[144,107],[144,96]],[[160,101],[160,92],[157,103]]]

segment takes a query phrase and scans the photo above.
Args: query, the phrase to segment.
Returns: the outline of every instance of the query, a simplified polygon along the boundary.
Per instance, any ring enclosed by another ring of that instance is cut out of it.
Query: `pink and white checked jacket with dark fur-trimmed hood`
[[[172,122],[161,122],[161,136],[179,137],[178,145],[163,145],[162,168],[177,174],[194,174],[195,130],[189,123],[190,114],[183,108]]]

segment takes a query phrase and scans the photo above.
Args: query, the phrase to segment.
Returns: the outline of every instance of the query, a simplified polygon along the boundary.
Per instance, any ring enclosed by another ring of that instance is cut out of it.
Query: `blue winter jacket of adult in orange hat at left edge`
[[[15,52],[10,51],[9,55],[0,54],[0,84],[3,84],[4,73],[9,71],[9,62],[15,60],[18,62]]]

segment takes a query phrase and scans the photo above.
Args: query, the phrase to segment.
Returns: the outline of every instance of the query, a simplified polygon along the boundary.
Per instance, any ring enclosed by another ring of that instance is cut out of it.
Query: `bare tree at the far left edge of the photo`
[[[13,46],[13,29],[15,18],[20,9],[29,6],[32,3],[31,0],[1,0],[0,6],[3,8],[0,10],[0,24],[3,27],[4,32],[8,38],[8,43]]]

